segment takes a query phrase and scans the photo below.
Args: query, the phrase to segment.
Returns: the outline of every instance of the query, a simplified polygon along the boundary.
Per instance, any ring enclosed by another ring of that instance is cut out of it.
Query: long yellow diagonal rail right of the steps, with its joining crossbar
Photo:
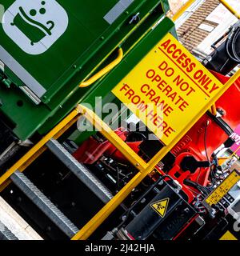
[[[218,94],[216,94],[206,106],[202,108],[202,110],[196,115],[194,119],[190,121],[190,123],[186,126],[186,129],[182,131],[182,133],[178,134],[169,145],[165,146],[162,150],[158,152],[150,160],[150,162],[146,163],[142,161],[142,158],[139,158],[138,154],[134,152],[134,150],[130,149],[129,146],[126,145],[125,142],[122,141],[121,138],[116,136],[113,130],[110,129],[109,126],[106,125],[102,121],[102,119],[98,118],[96,114],[92,110],[87,109],[84,106],[81,106],[83,114],[86,118],[93,123],[93,125],[98,128],[98,130],[106,136],[106,138],[114,144],[125,155],[125,157],[138,168],[139,172],[90,220],[90,222],[86,223],[85,226],[79,230],[78,234],[75,234],[72,240],[85,240],[90,237],[91,234],[110,216],[110,214],[122,203],[122,201],[130,194],[132,190],[140,182],[142,182],[143,178],[146,175],[150,174],[154,167],[162,160],[162,158],[174,147],[174,145],[182,138],[182,136],[186,133],[186,130],[189,130],[194,123],[198,121],[199,118],[202,117],[203,114],[206,113],[207,110],[210,109],[210,106],[213,105],[214,102],[218,100],[228,90],[228,88],[240,77],[240,70],[230,80],[226,83],[221,90],[219,90]]]

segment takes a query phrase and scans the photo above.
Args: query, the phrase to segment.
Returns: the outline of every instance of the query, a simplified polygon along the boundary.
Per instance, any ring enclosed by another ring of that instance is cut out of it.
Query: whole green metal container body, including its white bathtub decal
[[[0,60],[6,66],[0,81],[4,78],[13,81],[10,88],[1,84],[1,110],[15,124],[14,133],[21,139],[29,138],[44,123],[39,131],[46,132],[86,98],[97,83],[79,89],[78,82],[89,77],[119,43],[130,49],[162,17],[164,11],[159,4],[167,10],[166,0],[2,0],[1,3],[6,13],[0,26]],[[144,20],[142,25],[129,24],[138,12]],[[112,15],[118,14],[118,18],[110,21]],[[30,26],[36,18],[38,24]],[[46,38],[50,36],[54,39],[49,42]],[[28,42],[28,46],[22,42]],[[18,86],[34,90],[40,104],[34,105]]]

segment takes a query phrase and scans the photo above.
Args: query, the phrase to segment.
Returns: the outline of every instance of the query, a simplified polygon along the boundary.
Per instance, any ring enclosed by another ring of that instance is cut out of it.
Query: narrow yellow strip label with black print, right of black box
[[[240,180],[240,175],[234,170],[209,196],[206,203],[210,206],[217,204],[228,191]]]

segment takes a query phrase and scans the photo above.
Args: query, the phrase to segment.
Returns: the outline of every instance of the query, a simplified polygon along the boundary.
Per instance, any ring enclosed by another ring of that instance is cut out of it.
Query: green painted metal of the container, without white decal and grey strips
[[[14,3],[21,1],[29,4],[40,2],[40,5],[41,2],[46,2],[46,4],[48,2],[47,0],[2,0],[1,4],[8,10]],[[5,66],[4,73],[0,76],[0,99],[2,101],[0,110],[10,119],[14,125],[14,133],[22,140],[30,138],[36,130],[44,134],[52,129],[78,102],[92,102],[91,97],[96,94],[105,97],[114,83],[105,87],[104,90],[98,90],[99,82],[95,82],[93,86],[86,89],[78,88],[78,83],[115,58],[114,49],[120,44],[124,52],[130,50],[168,10],[167,0],[134,0],[112,24],[109,24],[104,17],[119,3],[118,0],[58,0],[56,2],[66,12],[68,24],[64,33],[42,54],[29,54],[22,50],[0,25],[0,46],[46,90],[40,98],[41,103],[36,106],[18,88],[28,86],[27,83],[24,84],[10,67]],[[30,19],[24,19],[25,16],[19,9],[18,14],[12,14],[12,26],[22,31],[33,46],[54,36],[54,31],[59,26],[59,21],[56,22],[54,14],[47,17],[44,22],[41,20],[42,26],[38,24],[39,21],[36,24],[30,22],[31,19],[34,20],[35,15],[40,15],[41,12],[42,16],[47,14],[46,6],[46,12],[42,11],[44,6],[39,7],[40,9],[23,7],[22,9],[26,9],[25,14]],[[130,24],[130,19],[138,13],[140,13],[142,24],[140,26]],[[169,26],[173,25],[169,24]],[[160,31],[158,37],[161,36]],[[113,52],[111,59],[105,62],[105,59]],[[133,67],[134,63],[130,65]],[[122,68],[125,69],[125,67]],[[1,82],[5,78],[13,82],[9,89],[6,88],[4,82]],[[121,79],[120,76],[115,78]]]

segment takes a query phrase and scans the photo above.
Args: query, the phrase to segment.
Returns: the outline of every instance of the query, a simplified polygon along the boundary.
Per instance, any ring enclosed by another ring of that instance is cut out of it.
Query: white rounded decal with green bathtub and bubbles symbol
[[[5,33],[27,54],[42,54],[64,34],[69,18],[55,0],[16,0],[2,18]]]

